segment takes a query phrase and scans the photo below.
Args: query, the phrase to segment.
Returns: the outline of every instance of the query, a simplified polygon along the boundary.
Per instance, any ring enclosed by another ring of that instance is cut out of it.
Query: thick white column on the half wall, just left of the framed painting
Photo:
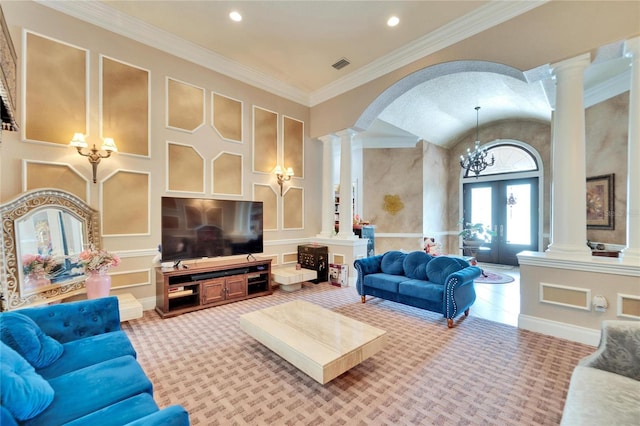
[[[551,65],[556,78],[553,120],[550,255],[589,256],[587,247],[584,70],[591,55]]]

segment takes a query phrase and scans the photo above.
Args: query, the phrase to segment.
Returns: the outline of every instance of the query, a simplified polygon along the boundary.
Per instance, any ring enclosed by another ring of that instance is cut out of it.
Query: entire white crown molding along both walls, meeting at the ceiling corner
[[[274,95],[305,106],[314,106],[492,26],[528,12],[549,0],[491,2],[479,10],[467,14],[312,93],[307,93],[283,81],[229,60],[215,52],[126,15],[105,3],[93,0],[35,1],[58,12],[201,65]]]

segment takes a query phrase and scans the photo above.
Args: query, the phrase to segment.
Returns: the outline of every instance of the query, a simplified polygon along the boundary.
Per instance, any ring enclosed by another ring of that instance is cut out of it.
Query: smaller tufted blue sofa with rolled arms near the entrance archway
[[[453,319],[476,300],[473,280],[482,270],[453,256],[431,256],[423,251],[389,251],[354,262],[356,288],[365,303],[366,296],[392,300],[441,313],[449,328]]]

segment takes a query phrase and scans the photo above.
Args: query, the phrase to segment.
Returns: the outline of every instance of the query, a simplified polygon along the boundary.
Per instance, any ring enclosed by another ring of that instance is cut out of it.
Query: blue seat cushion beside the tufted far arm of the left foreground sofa
[[[53,364],[38,369],[45,379],[51,379],[80,368],[124,355],[136,357],[136,351],[124,331],[98,334],[65,343],[64,354]]]

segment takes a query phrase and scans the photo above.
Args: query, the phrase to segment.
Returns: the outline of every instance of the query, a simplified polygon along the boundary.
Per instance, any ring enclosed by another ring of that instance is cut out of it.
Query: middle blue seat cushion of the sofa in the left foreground
[[[63,374],[49,384],[55,399],[23,426],[64,424],[139,393],[153,392],[140,364],[130,355]]]

